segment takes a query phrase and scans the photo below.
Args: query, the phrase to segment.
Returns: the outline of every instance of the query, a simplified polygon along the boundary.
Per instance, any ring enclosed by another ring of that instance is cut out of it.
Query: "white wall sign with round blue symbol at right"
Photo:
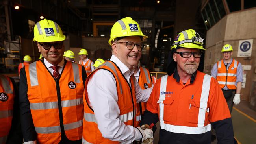
[[[253,39],[240,40],[237,57],[250,57],[252,55]]]

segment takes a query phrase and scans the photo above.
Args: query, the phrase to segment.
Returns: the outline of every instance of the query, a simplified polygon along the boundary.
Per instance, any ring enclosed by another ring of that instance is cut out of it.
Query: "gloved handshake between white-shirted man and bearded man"
[[[137,142],[138,144],[153,144],[153,131],[151,130],[151,125],[143,124],[141,127],[137,127],[141,132],[142,139]]]

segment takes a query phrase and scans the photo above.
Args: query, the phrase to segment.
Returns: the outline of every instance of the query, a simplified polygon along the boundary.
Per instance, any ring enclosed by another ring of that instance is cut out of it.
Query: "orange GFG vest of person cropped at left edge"
[[[14,89],[11,79],[0,74],[0,144],[5,144],[13,119]]]

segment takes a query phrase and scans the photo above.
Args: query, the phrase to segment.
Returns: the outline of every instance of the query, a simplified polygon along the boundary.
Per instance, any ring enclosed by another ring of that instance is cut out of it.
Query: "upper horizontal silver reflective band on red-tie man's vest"
[[[83,98],[78,98],[74,100],[62,100],[62,107],[71,107],[83,104]],[[30,103],[30,109],[41,110],[41,109],[58,109],[58,102],[44,102],[44,103]]]

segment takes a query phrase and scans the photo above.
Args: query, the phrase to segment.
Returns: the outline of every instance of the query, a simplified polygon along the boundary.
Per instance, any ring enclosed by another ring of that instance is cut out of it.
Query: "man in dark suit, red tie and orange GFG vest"
[[[34,36],[44,59],[20,70],[24,144],[81,144],[85,69],[63,59],[65,35],[56,22],[37,22]]]

